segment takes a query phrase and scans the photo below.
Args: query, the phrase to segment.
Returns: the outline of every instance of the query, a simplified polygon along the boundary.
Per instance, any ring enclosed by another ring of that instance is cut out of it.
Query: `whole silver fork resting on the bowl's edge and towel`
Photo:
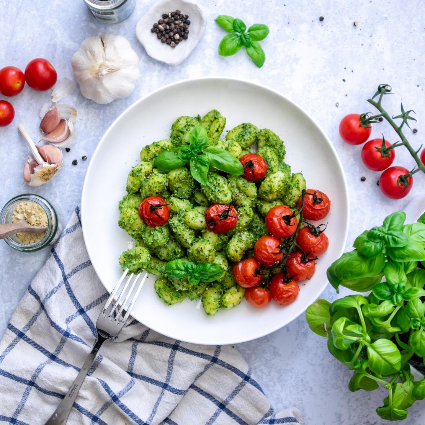
[[[121,329],[124,327],[125,323],[127,322],[127,319],[130,316],[131,309],[133,308],[134,303],[136,302],[136,299],[139,296],[139,293],[142,289],[143,283],[147,277],[147,273],[145,272],[141,282],[139,283],[138,288],[136,289],[136,292],[134,293],[133,297],[130,300],[131,294],[133,293],[133,289],[136,286],[136,283],[142,274],[136,275],[136,277],[133,280],[133,283],[131,283],[131,280],[134,277],[134,273],[132,273],[128,277],[127,282],[124,285],[122,285],[122,282],[124,281],[127,273],[128,273],[128,269],[125,270],[125,272],[119,279],[111,295],[109,296],[108,301],[106,301],[105,306],[100,312],[99,317],[97,318],[97,321],[96,321],[97,340],[96,340],[96,343],[94,344],[93,349],[91,350],[91,353],[88,355],[87,360],[85,361],[83,367],[79,371],[79,374],[77,378],[75,379],[75,381],[73,382],[73,384],[71,385],[71,388],[69,389],[68,393],[65,395],[64,399],[59,404],[57,409],[54,411],[53,415],[50,416],[50,418],[45,423],[45,425],[65,425],[66,424],[66,421],[68,420],[68,416],[71,412],[72,406],[74,405],[74,401],[77,398],[78,391],[81,388],[81,385],[85,380],[85,377],[87,376],[88,370],[91,368],[91,365],[93,364],[94,359],[96,358],[96,354],[99,351],[99,348],[102,346],[102,344],[105,341],[113,337],[116,337],[116,335],[119,334],[119,332],[121,331]],[[131,286],[130,286],[130,283],[131,283]],[[130,286],[130,289],[127,292],[127,289],[129,286]],[[120,290],[121,287],[122,289]],[[127,292],[127,295],[125,295],[126,292]],[[114,302],[114,298],[116,296],[118,298]],[[121,302],[124,296],[125,296],[125,299],[123,302]],[[129,300],[130,300],[130,304],[126,309],[125,306],[127,305]]]

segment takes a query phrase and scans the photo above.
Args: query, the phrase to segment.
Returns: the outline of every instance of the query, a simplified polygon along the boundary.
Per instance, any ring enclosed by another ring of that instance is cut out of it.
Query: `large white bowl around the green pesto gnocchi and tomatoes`
[[[178,113],[161,106],[163,94],[170,88],[184,99],[184,108]],[[262,337],[304,312],[325,289],[326,269],[343,253],[349,214],[346,178],[328,137],[303,109],[270,88],[237,79],[208,77],[164,86],[130,106],[102,137],[87,170],[81,220],[91,262],[110,291],[122,274],[118,257],[130,241],[117,225],[118,201],[125,194],[127,173],[140,161],[140,150],[168,138],[178,115],[202,115],[214,108],[227,117],[224,134],[242,122],[275,131],[285,141],[286,161],[292,170],[302,171],[307,186],[323,190],[332,203],[326,217],[329,249],[317,261],[313,278],[300,285],[298,299],[289,306],[272,302],[255,309],[243,300],[234,309],[208,317],[188,299],[167,306],[153,289],[155,277],[148,278],[134,306],[134,318],[178,340],[231,344]]]

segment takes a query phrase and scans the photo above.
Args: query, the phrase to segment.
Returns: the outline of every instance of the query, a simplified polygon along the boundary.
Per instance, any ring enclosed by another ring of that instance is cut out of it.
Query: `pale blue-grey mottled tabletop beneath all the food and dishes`
[[[207,29],[199,46],[177,68],[148,57],[134,36],[134,26],[151,1],[139,0],[133,15],[113,26],[97,22],[82,1],[3,1],[0,68],[15,65],[24,69],[34,57],[45,57],[57,69],[59,77],[72,77],[71,55],[82,40],[109,31],[130,41],[140,57],[142,77],[132,95],[109,105],[97,105],[85,99],[78,89],[64,99],[78,110],[76,142],[71,152],[64,152],[66,166],[58,176],[39,188],[28,187],[22,178],[27,151],[16,126],[23,122],[35,138],[40,124],[38,113],[49,96],[26,87],[19,96],[8,99],[15,107],[16,116],[10,126],[0,128],[0,204],[20,193],[39,193],[59,204],[66,222],[79,203],[85,171],[96,144],[127,106],[169,82],[223,75],[261,82],[281,91],[303,106],[329,135],[345,167],[350,190],[349,249],[357,234],[382,222],[388,213],[402,209],[409,198],[423,190],[424,177],[416,175],[408,198],[386,199],[376,185],[379,174],[365,169],[360,161],[361,147],[341,141],[338,124],[346,113],[370,111],[364,99],[374,93],[379,83],[389,83],[395,94],[385,99],[388,110],[398,114],[402,98],[406,110],[414,109],[417,113],[418,123],[412,128],[419,131],[413,134],[406,128],[409,139],[417,147],[424,141],[421,122],[425,113],[422,54],[425,6],[420,0],[284,1],[201,1],[208,11]],[[240,17],[248,24],[269,25],[270,35],[262,42],[267,55],[262,69],[252,65],[243,51],[233,57],[218,56],[217,45],[225,34],[213,22],[218,14]],[[325,17],[323,22],[319,21],[321,15]],[[354,21],[358,22],[357,26],[353,25]],[[339,107],[335,106],[337,102]],[[164,99],[165,105],[175,107],[176,115],[184,113],[184,99],[168,104]],[[382,131],[391,142],[397,140],[385,124],[376,125],[372,136],[380,137]],[[87,155],[88,160],[81,161],[82,155]],[[77,166],[71,165],[73,159],[78,160]],[[394,164],[409,169],[414,166],[403,150],[397,150]],[[105,167],[113,172],[113,158]],[[366,177],[364,183],[361,176]],[[0,299],[4,306],[0,310],[0,335],[47,256],[48,250],[21,254],[0,243]],[[328,286],[323,297],[334,299],[336,294]],[[297,406],[303,411],[306,424],[383,423],[374,409],[381,405],[385,391],[351,394],[347,388],[350,372],[330,356],[326,341],[309,331],[303,315],[280,331],[240,344],[239,349],[274,407]],[[406,422],[423,423],[423,406],[423,402],[417,402]]]

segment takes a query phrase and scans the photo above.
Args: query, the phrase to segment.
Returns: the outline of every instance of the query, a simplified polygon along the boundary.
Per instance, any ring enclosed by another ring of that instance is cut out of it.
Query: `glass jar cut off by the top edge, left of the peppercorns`
[[[127,19],[136,6],[136,0],[83,0],[94,17],[103,23],[116,24]]]

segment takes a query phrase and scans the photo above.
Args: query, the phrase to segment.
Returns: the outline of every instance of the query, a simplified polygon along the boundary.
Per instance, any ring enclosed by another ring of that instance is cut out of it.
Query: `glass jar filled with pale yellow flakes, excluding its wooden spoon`
[[[62,234],[62,214],[57,206],[40,195],[25,193],[12,198],[0,212],[0,224],[25,220],[32,226],[47,227],[45,232],[20,232],[4,240],[21,252],[34,252],[53,245]]]

